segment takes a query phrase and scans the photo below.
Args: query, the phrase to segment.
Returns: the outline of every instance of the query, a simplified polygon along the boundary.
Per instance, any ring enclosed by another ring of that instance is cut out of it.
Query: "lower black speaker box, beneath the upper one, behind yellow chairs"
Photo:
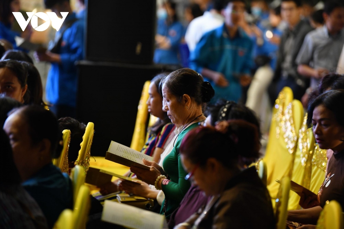
[[[130,146],[144,82],[179,68],[80,61],[76,117],[94,123],[91,155],[104,157],[111,140]]]

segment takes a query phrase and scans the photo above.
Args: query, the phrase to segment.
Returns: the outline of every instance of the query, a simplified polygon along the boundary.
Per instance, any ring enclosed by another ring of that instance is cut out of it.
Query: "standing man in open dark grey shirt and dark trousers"
[[[295,99],[301,99],[308,87],[308,81],[297,72],[295,59],[307,33],[313,30],[308,22],[301,20],[301,2],[299,0],[282,0],[282,19],[288,28],[281,36],[277,54],[276,71],[270,86],[270,97],[275,101],[283,87],[290,87]]]

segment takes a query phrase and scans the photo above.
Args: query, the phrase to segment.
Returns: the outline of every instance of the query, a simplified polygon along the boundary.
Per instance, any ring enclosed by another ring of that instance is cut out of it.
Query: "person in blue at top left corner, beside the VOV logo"
[[[30,23],[28,26],[26,26],[26,29],[22,33],[11,30],[12,24],[15,20],[12,12],[19,12],[19,10],[19,0],[0,1],[0,39],[5,39],[10,42],[13,46],[13,49],[18,49],[14,39],[15,36],[21,36],[25,39],[30,39],[32,32]]]

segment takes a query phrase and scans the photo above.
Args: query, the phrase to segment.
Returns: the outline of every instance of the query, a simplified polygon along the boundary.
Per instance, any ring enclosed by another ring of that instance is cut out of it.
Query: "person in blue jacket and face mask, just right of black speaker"
[[[155,35],[153,61],[157,64],[180,64],[178,50],[184,34],[182,23],[177,20],[176,4],[171,0],[158,10],[158,26]]]

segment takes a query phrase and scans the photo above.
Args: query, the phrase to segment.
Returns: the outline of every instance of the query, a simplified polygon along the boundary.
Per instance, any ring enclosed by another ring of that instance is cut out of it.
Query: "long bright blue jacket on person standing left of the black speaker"
[[[64,24],[74,20],[76,14],[67,16]],[[63,31],[63,25],[59,32]],[[76,106],[77,69],[75,61],[83,58],[84,21],[78,20],[67,28],[62,37],[60,50],[61,64],[52,63],[46,81],[46,99],[52,104]]]

